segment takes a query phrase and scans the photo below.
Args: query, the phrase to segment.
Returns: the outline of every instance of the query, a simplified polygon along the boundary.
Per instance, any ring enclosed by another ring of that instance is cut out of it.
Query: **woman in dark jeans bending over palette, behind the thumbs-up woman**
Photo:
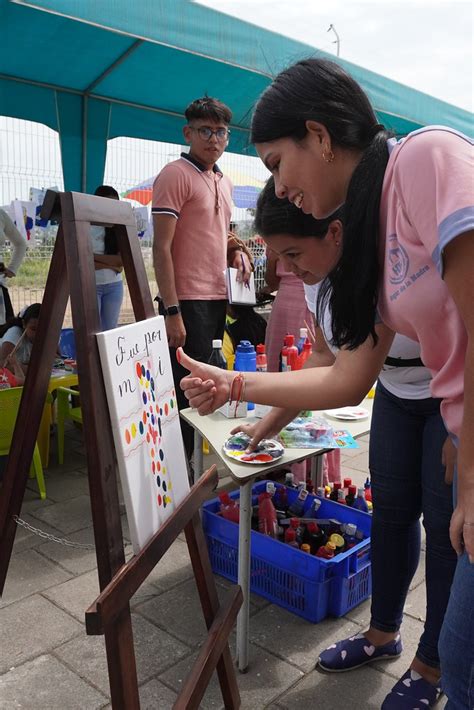
[[[312,366],[331,366],[337,354],[332,343],[329,301],[320,302],[318,309],[318,295],[342,254],[341,220],[343,210],[326,220],[315,220],[288,200],[278,199],[273,178],[257,203],[260,234],[280,254],[285,268],[304,283],[308,306],[318,324]],[[395,335],[377,383],[370,429],[369,469],[374,501],[370,628],[323,651],[319,666],[326,671],[349,671],[400,655],[400,625],[420,559],[423,515],[427,608],[411,669],[437,679],[439,635],[456,569],[456,553],[449,540],[455,450],[447,439],[440,400],[430,396],[430,381],[429,370],[420,360],[418,343]],[[293,414],[290,411],[287,415],[289,421]],[[270,422],[274,416],[279,419],[284,415],[282,411],[272,412],[268,415]],[[254,425],[241,428],[254,434]],[[443,459],[449,463],[447,467]]]

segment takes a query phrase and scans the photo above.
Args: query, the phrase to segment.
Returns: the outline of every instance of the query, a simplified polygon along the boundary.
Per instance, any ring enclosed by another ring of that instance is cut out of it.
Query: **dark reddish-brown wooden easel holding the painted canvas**
[[[104,634],[114,709],[140,707],[129,600],[184,528],[209,630],[175,707],[197,708],[217,669],[224,703],[240,696],[228,637],[242,604],[234,587],[219,606],[199,517],[217,485],[215,466],[199,480],[138,555],[125,563],[112,428],[95,333],[100,330],[89,238],[91,223],[115,228],[136,320],[155,315],[130,205],[80,193],[46,193],[42,217],[60,222],[0,496],[0,593],[3,592],[30,462],[68,296],[76,338],[84,440],[101,594],[86,612],[88,634]]]

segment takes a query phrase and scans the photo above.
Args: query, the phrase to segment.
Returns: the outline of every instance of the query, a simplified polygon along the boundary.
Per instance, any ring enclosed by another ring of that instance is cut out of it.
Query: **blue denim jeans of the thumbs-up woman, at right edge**
[[[439,639],[445,710],[474,708],[474,564],[459,559]]]

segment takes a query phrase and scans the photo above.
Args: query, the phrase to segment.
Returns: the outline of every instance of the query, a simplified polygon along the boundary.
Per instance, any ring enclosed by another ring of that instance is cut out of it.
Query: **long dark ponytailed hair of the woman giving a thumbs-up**
[[[369,335],[377,341],[379,209],[387,138],[393,133],[377,123],[359,84],[325,59],[298,62],[276,77],[255,108],[252,142],[282,137],[300,141],[308,120],[322,123],[335,146],[362,152],[344,205],[341,259],[322,287],[326,294],[331,289],[334,344],[354,349]]]

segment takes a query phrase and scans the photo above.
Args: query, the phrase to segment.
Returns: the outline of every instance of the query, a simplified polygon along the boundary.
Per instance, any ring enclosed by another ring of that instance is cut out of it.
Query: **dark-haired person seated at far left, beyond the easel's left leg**
[[[14,352],[23,372],[28,369],[38,327],[41,303],[28,306],[17,318],[0,327],[0,365],[5,367]]]

